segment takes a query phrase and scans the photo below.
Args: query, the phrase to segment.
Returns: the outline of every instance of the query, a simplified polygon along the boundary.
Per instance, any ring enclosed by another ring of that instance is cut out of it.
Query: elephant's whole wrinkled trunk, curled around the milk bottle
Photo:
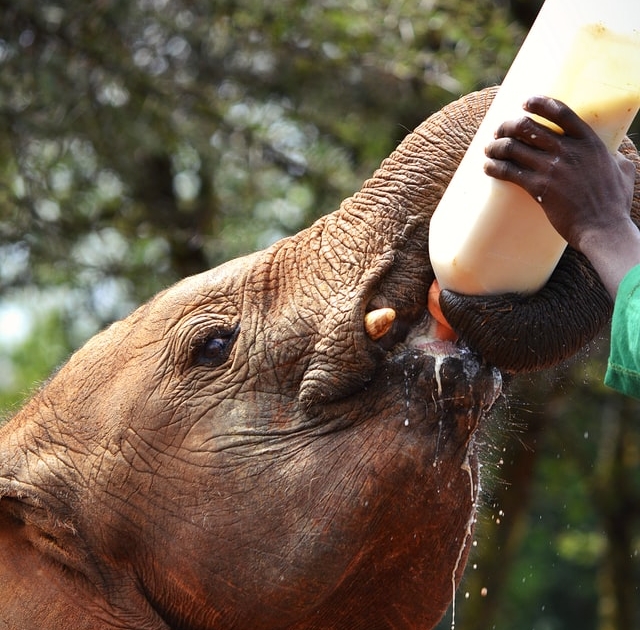
[[[351,356],[361,368],[354,380],[361,383],[373,369],[371,339],[364,333],[366,313],[393,309],[393,316],[376,313],[374,319],[386,317],[385,332],[395,330],[398,340],[403,321],[415,322],[426,312],[434,277],[429,221],[496,91],[469,94],[430,116],[359,192],[296,238],[306,252],[301,256],[305,283],[321,288],[328,308],[307,377],[344,381],[345,359]],[[639,168],[634,145],[627,140],[622,150]],[[638,224],[640,183],[632,217]],[[535,295],[472,297],[443,291],[440,301],[461,342],[507,372],[530,372],[563,361],[598,334],[612,309],[595,270],[571,249]],[[330,378],[337,366],[342,376]],[[310,387],[310,398],[316,399],[324,385],[318,381]]]

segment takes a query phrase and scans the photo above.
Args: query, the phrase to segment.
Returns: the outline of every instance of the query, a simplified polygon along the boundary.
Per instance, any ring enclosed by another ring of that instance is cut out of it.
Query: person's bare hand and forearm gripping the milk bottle
[[[640,264],[640,231],[630,217],[634,165],[620,153],[611,155],[564,103],[534,96],[524,109],[555,123],[564,135],[527,116],[505,122],[486,148],[485,172],[537,199],[615,299],[622,278]]]

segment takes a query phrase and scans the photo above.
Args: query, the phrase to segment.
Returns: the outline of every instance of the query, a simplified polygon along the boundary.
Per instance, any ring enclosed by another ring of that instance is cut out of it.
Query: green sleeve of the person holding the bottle
[[[623,394],[640,398],[640,265],[627,273],[618,288],[604,382]]]

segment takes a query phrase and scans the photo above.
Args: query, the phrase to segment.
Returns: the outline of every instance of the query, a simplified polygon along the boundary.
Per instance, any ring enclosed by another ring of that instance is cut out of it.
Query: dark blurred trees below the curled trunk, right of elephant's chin
[[[510,389],[456,628],[640,627],[640,401],[600,345]]]

